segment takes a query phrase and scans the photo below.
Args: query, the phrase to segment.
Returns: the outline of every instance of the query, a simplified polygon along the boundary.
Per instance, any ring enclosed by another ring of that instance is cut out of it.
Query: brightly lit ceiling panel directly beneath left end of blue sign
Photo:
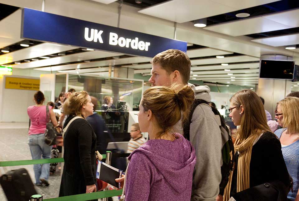
[[[42,43],[7,54],[2,54],[0,55],[0,64],[55,54],[71,49],[75,49],[75,47],[54,43]]]

